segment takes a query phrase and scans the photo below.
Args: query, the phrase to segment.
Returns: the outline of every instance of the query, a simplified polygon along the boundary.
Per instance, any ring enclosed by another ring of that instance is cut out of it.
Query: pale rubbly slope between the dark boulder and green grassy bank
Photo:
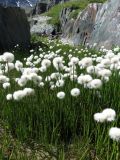
[[[31,33],[32,34],[45,34],[51,35],[56,33],[56,27],[53,24],[49,24],[48,21],[51,19],[50,16],[43,16],[40,15],[49,10],[52,6],[60,3],[65,2],[68,0],[39,0],[34,9],[32,10],[32,16],[29,17],[29,22],[31,26]],[[59,15],[59,14],[58,14]]]

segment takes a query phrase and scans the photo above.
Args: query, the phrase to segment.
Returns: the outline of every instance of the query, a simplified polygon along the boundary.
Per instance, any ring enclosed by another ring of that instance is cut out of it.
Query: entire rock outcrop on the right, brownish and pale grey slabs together
[[[120,45],[120,0],[90,4],[76,20],[69,18],[69,9],[62,11],[62,38],[73,45],[97,43],[97,47]]]

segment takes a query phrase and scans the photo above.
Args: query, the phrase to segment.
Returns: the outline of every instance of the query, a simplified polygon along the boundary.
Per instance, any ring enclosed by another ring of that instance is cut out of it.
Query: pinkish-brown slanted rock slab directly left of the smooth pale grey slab
[[[83,44],[88,43],[88,39],[94,30],[95,18],[101,4],[90,4],[88,7],[78,15],[73,25],[73,43]]]

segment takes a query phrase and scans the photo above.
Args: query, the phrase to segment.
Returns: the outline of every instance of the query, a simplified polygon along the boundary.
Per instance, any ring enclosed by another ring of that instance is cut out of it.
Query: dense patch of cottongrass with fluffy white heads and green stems
[[[85,138],[96,157],[119,159],[119,50],[44,43],[24,60],[0,56],[1,118],[21,141],[59,150]]]

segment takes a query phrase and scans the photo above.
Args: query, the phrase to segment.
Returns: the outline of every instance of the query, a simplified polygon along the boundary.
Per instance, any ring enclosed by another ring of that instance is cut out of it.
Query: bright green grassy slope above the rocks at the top
[[[52,7],[48,12],[44,13],[44,15],[52,17],[52,19],[49,21],[50,24],[58,26],[60,25],[59,14],[63,8],[69,8],[69,7],[72,8],[74,11],[71,12],[70,17],[76,18],[78,13],[83,9],[85,9],[85,7],[89,3],[94,3],[94,2],[103,3],[105,1],[106,0],[74,0],[62,4],[60,3]]]

